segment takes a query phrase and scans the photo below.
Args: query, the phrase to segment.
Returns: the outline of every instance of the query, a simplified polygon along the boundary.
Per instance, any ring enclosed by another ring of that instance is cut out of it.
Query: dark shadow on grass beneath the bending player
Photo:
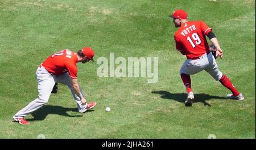
[[[94,110],[87,110],[86,113],[92,112]],[[44,120],[48,114],[57,114],[57,115],[64,115],[67,117],[82,117],[83,115],[70,115],[67,112],[77,112],[77,108],[64,108],[63,106],[52,106],[52,105],[45,105],[42,108],[36,110],[36,112],[32,113],[31,115],[34,118],[26,119],[27,121],[42,121]]]

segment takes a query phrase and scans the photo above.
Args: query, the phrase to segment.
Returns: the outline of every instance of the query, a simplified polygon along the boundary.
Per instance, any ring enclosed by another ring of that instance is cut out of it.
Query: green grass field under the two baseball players
[[[188,12],[204,20],[224,50],[218,67],[245,96],[230,93],[207,72],[192,75],[195,103],[179,68],[185,56],[175,50],[176,28],[168,15]],[[0,0],[0,138],[255,138],[255,1]],[[159,78],[99,78],[97,63],[78,63],[78,79],[93,111],[78,113],[65,85],[26,119],[13,115],[38,95],[35,71],[62,49],[92,47],[99,57],[158,57]],[[105,112],[109,106],[112,111]]]

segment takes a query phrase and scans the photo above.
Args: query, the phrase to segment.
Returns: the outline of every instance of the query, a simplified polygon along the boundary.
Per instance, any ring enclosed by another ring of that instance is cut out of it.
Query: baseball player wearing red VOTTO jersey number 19
[[[187,57],[180,68],[180,76],[188,92],[185,106],[192,106],[194,99],[190,75],[202,70],[207,71],[215,80],[220,81],[224,87],[232,92],[232,94],[227,95],[228,98],[243,100],[242,93],[238,92],[229,78],[218,70],[216,60],[210,53],[206,36],[216,48],[215,57],[219,56],[221,59],[223,57],[223,52],[212,28],[209,28],[203,21],[188,22],[187,13],[184,10],[175,10],[174,14],[169,17],[173,18],[175,27],[179,28],[174,35],[176,50]]]

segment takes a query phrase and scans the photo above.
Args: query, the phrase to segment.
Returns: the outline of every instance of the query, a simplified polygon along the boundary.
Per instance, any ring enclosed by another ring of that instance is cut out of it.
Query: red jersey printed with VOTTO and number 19
[[[176,49],[181,50],[180,53],[186,55],[188,59],[209,53],[209,45],[205,36],[210,31],[212,28],[209,28],[203,21],[181,24],[174,35]]]

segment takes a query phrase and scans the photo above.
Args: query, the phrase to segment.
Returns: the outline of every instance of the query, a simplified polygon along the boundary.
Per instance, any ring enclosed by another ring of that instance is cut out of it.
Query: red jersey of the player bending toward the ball
[[[53,75],[62,75],[68,72],[69,76],[77,79],[77,54],[65,49],[50,55],[42,66]]]

